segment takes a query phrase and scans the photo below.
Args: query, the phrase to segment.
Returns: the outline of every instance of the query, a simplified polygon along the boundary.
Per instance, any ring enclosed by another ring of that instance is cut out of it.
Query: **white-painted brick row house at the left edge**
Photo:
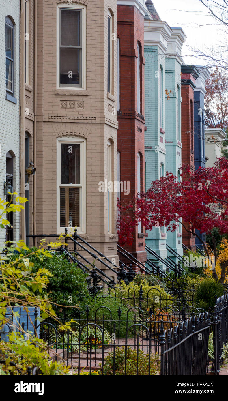
[[[20,1],[1,0],[0,13],[0,198],[20,188]],[[0,242],[20,239],[20,215],[7,215],[10,227],[1,229]]]

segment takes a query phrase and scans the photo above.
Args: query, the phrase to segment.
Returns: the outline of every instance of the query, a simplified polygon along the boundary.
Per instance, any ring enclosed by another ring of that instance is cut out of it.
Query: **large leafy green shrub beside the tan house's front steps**
[[[24,255],[28,255],[36,250],[35,247],[29,251],[24,251]],[[16,259],[17,255],[15,255]],[[36,255],[28,256],[30,262],[33,263],[32,273],[36,273],[40,268],[46,268],[53,274],[49,278],[49,283],[45,293],[50,293],[51,300],[59,305],[79,306],[80,312],[84,312],[89,303],[89,291],[86,282],[86,275],[76,265],[76,263],[68,263],[68,259],[64,254],[54,253],[53,257],[38,258]],[[71,298],[72,297],[72,298]],[[65,312],[65,317],[70,317],[71,308]],[[58,307],[57,316],[63,317],[61,307]]]

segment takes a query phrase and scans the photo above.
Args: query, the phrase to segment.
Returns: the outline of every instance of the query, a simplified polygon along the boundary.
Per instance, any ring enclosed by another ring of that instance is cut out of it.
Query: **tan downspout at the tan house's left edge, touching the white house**
[[[24,0],[20,0],[20,196],[25,198],[25,150],[24,150]],[[20,238],[26,242],[25,208],[20,212]]]

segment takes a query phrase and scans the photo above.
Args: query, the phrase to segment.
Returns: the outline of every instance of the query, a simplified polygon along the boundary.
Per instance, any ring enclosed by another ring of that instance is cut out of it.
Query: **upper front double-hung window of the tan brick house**
[[[58,7],[58,87],[85,87],[85,8]]]

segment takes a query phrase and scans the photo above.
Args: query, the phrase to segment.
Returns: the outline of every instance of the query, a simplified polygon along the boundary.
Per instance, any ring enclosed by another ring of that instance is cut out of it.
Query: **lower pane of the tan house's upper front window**
[[[60,83],[79,85],[81,49],[60,49]]]

